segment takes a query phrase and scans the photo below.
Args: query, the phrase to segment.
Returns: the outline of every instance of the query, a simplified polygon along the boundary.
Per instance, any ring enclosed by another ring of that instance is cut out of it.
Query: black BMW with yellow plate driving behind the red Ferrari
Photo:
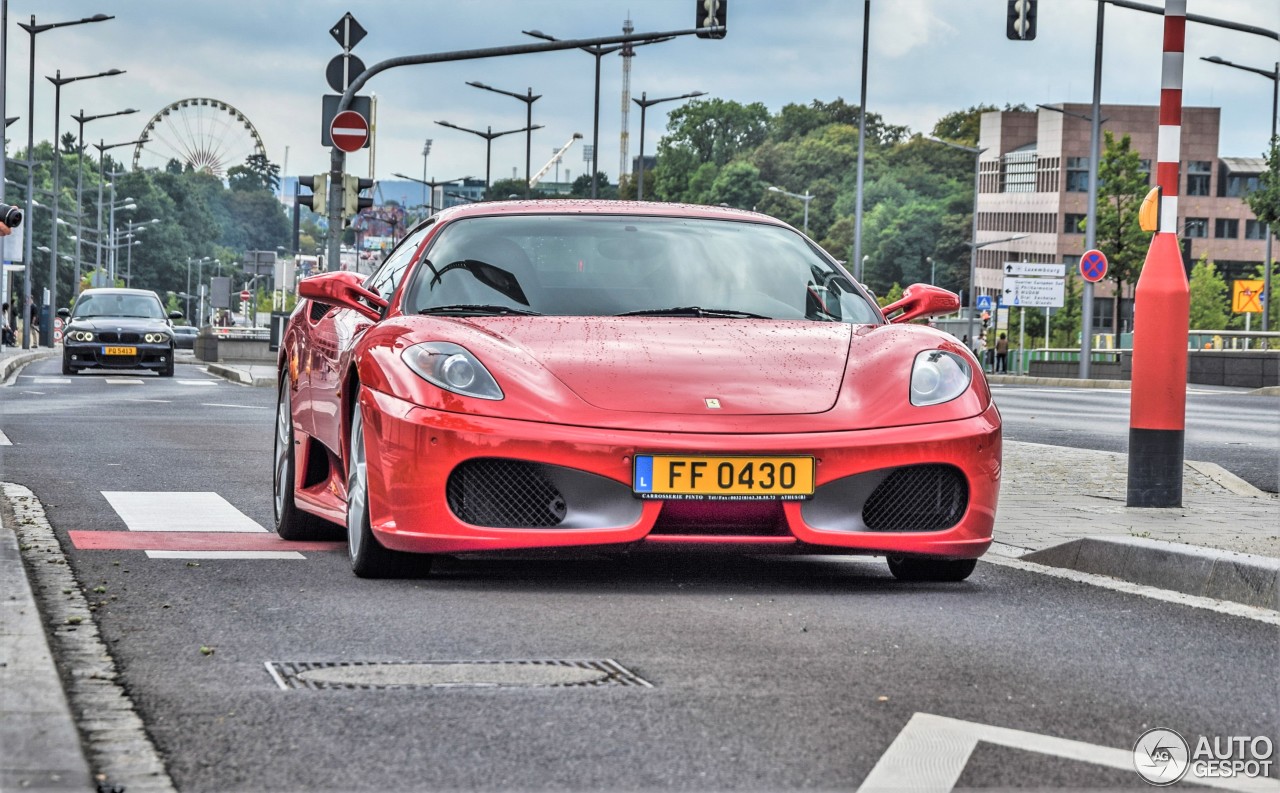
[[[147,368],[161,377],[173,376],[174,334],[170,320],[180,311],[165,312],[155,292],[146,289],[86,289],[63,317],[63,373],[78,370]]]

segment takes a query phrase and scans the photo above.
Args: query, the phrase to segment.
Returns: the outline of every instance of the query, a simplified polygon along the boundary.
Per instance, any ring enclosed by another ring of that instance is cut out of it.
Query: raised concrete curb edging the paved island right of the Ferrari
[[[1144,537],[1083,537],[1020,556],[1048,567],[1280,609],[1280,559]]]

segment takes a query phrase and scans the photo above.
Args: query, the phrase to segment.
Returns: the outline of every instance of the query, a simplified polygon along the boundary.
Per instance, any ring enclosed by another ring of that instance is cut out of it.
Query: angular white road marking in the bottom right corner
[[[911,715],[888,750],[881,755],[876,767],[863,780],[858,792],[948,793],[959,781],[965,766],[969,765],[973,750],[979,743],[993,743],[1038,755],[1132,771],[1135,779],[1140,779],[1133,765],[1132,750],[1116,750],[1083,741],[1069,741],[978,721],[961,721],[960,719],[916,712]],[[1220,779],[1188,775],[1183,781],[1226,790],[1280,790],[1280,781],[1274,779]]]

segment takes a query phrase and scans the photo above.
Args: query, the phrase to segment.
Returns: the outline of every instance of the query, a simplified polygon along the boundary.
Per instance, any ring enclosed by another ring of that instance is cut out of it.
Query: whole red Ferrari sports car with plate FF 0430
[[[444,210],[369,276],[300,283],[275,528],[346,526],[357,576],[435,554],[719,546],[870,554],[960,581],[991,544],[1000,414],[916,284],[881,310],[737,210]]]

